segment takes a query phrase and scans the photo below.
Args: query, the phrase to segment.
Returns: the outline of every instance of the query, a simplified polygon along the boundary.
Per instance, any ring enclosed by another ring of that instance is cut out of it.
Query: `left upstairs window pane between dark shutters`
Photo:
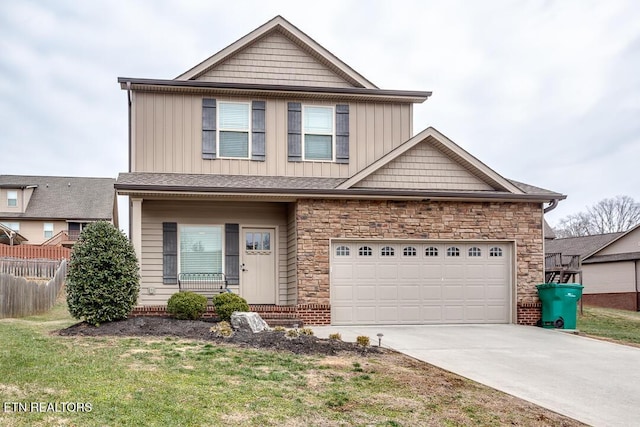
[[[218,153],[220,157],[248,159],[251,106],[242,102],[218,103]]]

